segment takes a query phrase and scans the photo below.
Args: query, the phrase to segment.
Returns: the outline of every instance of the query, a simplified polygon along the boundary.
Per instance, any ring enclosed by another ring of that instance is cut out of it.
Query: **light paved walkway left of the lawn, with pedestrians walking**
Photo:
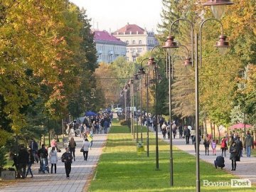
[[[65,151],[65,149],[61,149],[61,152],[58,153],[57,174],[48,174],[47,172],[38,174],[39,164],[33,164],[33,178],[30,178],[28,174],[27,178],[18,179],[11,186],[0,187],[0,191],[83,191],[87,182],[92,179],[92,173],[97,166],[100,154],[102,154],[102,146],[105,145],[107,135],[95,134],[93,138],[92,149],[89,151],[87,161],[84,161],[80,152],[82,139],[75,137],[77,147],[69,180],[65,176],[64,163],[60,161],[60,157]]]

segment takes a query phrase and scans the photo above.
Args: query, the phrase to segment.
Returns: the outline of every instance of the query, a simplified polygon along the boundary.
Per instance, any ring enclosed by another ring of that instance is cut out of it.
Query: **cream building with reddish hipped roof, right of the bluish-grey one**
[[[135,24],[127,23],[126,26],[114,31],[112,35],[127,43],[126,57],[132,62],[135,62],[139,55],[143,55],[158,45],[153,31],[146,31]]]

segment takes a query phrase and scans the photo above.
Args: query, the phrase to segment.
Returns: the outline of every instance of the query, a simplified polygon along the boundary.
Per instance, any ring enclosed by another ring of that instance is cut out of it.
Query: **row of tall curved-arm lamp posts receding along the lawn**
[[[220,53],[225,53],[225,50],[229,47],[229,43],[228,41],[226,41],[226,36],[224,36],[224,30],[223,30],[223,24],[221,23],[221,21],[219,20],[220,18],[222,18],[223,14],[225,13],[225,8],[227,5],[232,5],[233,2],[230,2],[230,0],[208,0],[205,4],[203,4],[203,6],[211,6],[211,9],[213,11],[213,15],[215,16],[215,18],[208,18],[206,20],[204,20],[199,28],[199,51],[198,51],[198,33],[195,34],[194,36],[194,26],[193,23],[191,21],[189,21],[186,18],[178,18],[176,19],[176,21],[174,21],[173,23],[171,23],[170,26],[170,30],[169,30],[169,36],[166,38],[167,41],[165,42],[164,46],[162,46],[161,48],[166,49],[167,52],[167,58],[168,60],[166,60],[166,65],[168,65],[169,68],[169,121],[170,121],[170,186],[174,186],[174,169],[173,169],[173,146],[172,146],[172,129],[171,129],[171,79],[174,78],[173,75],[173,71],[174,71],[174,63],[171,63],[171,49],[172,48],[180,48],[180,47],[184,47],[186,48],[186,46],[182,46],[181,44],[177,43],[175,41],[175,37],[172,36],[171,33],[171,29],[172,26],[174,26],[174,23],[178,22],[178,21],[185,21],[187,23],[190,24],[191,26],[191,57],[189,57],[189,55],[187,55],[185,61],[184,61],[184,65],[192,65],[195,68],[195,100],[196,100],[196,191],[201,191],[201,186],[200,186],[200,164],[199,164],[199,95],[198,95],[198,63],[199,66],[201,67],[202,65],[202,28],[203,25],[207,22],[207,21],[216,21],[217,23],[220,24],[221,26],[221,34],[219,36],[219,40],[216,42],[215,47],[218,48],[220,50]],[[195,42],[194,42],[194,38],[195,38]],[[193,50],[195,46],[195,50]],[[154,48],[156,48],[157,46],[155,46]],[[151,50],[151,57],[149,58],[148,61],[148,66],[152,66],[154,68],[154,78],[155,78],[155,90],[156,90],[156,95],[155,95],[155,114],[156,114],[156,121],[157,121],[157,92],[158,92],[158,70],[159,67],[156,64],[156,62],[154,61],[154,57],[152,57],[152,52],[154,50],[154,48]],[[188,48],[186,48],[187,53],[188,53]],[[194,53],[195,52],[195,53]],[[195,54],[195,59],[193,57],[193,55]],[[198,55],[199,54],[199,55]],[[192,58],[192,60],[191,60]],[[146,60],[146,59],[144,59]],[[142,62],[144,61],[142,60]],[[199,61],[198,61],[199,60]],[[195,63],[195,65],[194,65]],[[142,67],[142,63],[141,63],[141,67],[139,68],[139,73],[136,75],[145,75],[146,74],[146,79],[147,79],[147,86],[149,85],[149,74],[145,73],[144,68]],[[129,80],[130,85],[133,83],[133,80]],[[142,87],[140,87],[142,89]],[[148,87],[147,87],[148,89]],[[142,95],[142,92],[141,92]],[[147,90],[147,102],[148,102],[148,90]],[[141,105],[142,105],[142,100],[141,100]],[[142,109],[140,109],[142,112]],[[149,112],[148,110],[148,103],[147,103],[147,110],[146,110],[147,114]],[[132,113],[133,115],[133,113]],[[149,116],[147,115],[147,122],[148,122]],[[134,123],[134,122],[133,122]],[[134,125],[133,125],[134,126]],[[138,140],[137,140],[138,141]],[[158,129],[156,128],[156,170],[159,170],[159,148],[158,148]],[[149,127],[148,127],[148,123],[147,123],[147,156],[149,156]]]

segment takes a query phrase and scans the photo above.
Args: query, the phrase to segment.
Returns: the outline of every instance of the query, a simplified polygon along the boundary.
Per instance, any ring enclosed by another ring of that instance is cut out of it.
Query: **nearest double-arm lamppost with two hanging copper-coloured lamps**
[[[230,1],[228,0],[215,0],[215,1],[208,1],[208,3],[206,4],[203,4],[203,5],[210,5],[210,6],[224,6],[224,5],[228,5],[228,4],[233,4],[231,3]],[[220,8],[220,7],[218,7]],[[223,12],[223,11],[221,11]],[[220,15],[220,13],[218,14]],[[220,16],[221,17],[221,16]],[[202,30],[202,27],[203,27],[203,24],[206,22],[206,21],[209,21],[209,20],[214,20],[214,21],[218,21],[217,19],[215,18],[209,18],[209,19],[206,19],[205,21],[203,21],[201,23],[201,26],[200,26],[200,33],[199,33],[199,38],[200,38],[200,52],[199,52],[199,61],[200,61],[200,65],[201,65],[201,30]],[[174,41],[174,36],[171,36],[171,27],[174,25],[174,23],[176,23],[177,21],[186,21],[188,22],[190,25],[191,25],[191,29],[192,29],[192,33],[191,33],[191,41],[192,41],[192,58],[193,58],[193,31],[194,31],[194,28],[193,28],[193,23],[191,23],[191,21],[188,21],[186,18],[178,18],[176,21],[174,21],[173,23],[171,23],[171,26],[170,26],[170,35],[167,37],[167,41],[164,45],[163,48],[177,48],[177,43]],[[220,21],[218,21],[218,23],[220,23],[221,27],[222,27],[222,34],[221,36],[219,37],[220,40],[218,42],[216,42],[215,44],[215,47],[217,48],[220,48],[220,50],[225,50],[225,48],[228,48],[229,47],[229,44],[227,41],[225,41],[226,39],[226,36],[223,36],[223,25]],[[199,164],[199,96],[198,96],[198,34],[196,33],[196,36],[195,36],[195,39],[196,39],[196,65],[195,65],[195,84],[196,84],[196,87],[195,87],[195,93],[196,93],[196,191],[200,191],[200,164]],[[193,59],[192,59],[192,62],[193,62]]]

